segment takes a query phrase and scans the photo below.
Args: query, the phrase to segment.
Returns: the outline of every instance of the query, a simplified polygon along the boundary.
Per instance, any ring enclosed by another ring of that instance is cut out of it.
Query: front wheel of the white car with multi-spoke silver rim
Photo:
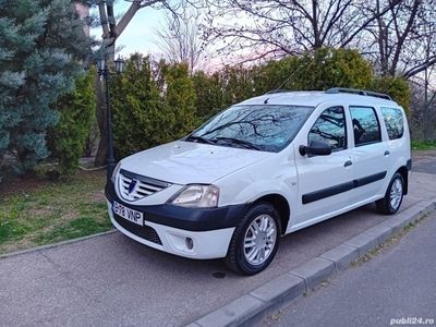
[[[274,259],[281,234],[279,214],[269,203],[247,209],[237,226],[226,256],[227,266],[241,275],[255,275]]]

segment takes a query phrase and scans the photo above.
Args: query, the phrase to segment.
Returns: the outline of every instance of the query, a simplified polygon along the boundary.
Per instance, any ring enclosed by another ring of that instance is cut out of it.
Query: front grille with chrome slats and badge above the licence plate
[[[120,171],[118,185],[122,198],[130,202],[144,198],[171,186],[170,183],[147,178],[123,169]]]

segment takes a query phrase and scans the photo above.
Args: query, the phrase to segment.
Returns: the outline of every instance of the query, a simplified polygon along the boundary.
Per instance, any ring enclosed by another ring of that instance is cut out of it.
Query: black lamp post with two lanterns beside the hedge
[[[121,57],[114,61],[116,71],[118,74],[121,74],[124,69],[124,60]],[[110,181],[110,178],[113,172],[113,168],[116,166],[116,159],[113,156],[113,133],[112,133],[112,109],[110,107],[110,94],[109,94],[109,77],[110,77],[110,68],[108,66],[107,58],[102,58],[97,62],[98,74],[102,76],[105,81],[105,95],[106,95],[106,108],[107,108],[107,132],[108,132],[108,166],[107,166],[107,181]]]

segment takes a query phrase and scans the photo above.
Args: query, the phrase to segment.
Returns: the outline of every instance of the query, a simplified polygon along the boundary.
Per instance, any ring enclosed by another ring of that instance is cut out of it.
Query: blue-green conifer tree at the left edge
[[[74,89],[87,51],[70,0],[0,0],[0,166],[7,153],[20,171],[49,155],[50,104]]]

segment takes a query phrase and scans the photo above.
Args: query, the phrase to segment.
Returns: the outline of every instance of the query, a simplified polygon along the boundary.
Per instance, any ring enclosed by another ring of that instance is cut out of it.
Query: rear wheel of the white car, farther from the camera
[[[384,215],[393,215],[401,206],[404,195],[404,179],[396,172],[390,180],[384,198],[376,202],[377,210]]]

